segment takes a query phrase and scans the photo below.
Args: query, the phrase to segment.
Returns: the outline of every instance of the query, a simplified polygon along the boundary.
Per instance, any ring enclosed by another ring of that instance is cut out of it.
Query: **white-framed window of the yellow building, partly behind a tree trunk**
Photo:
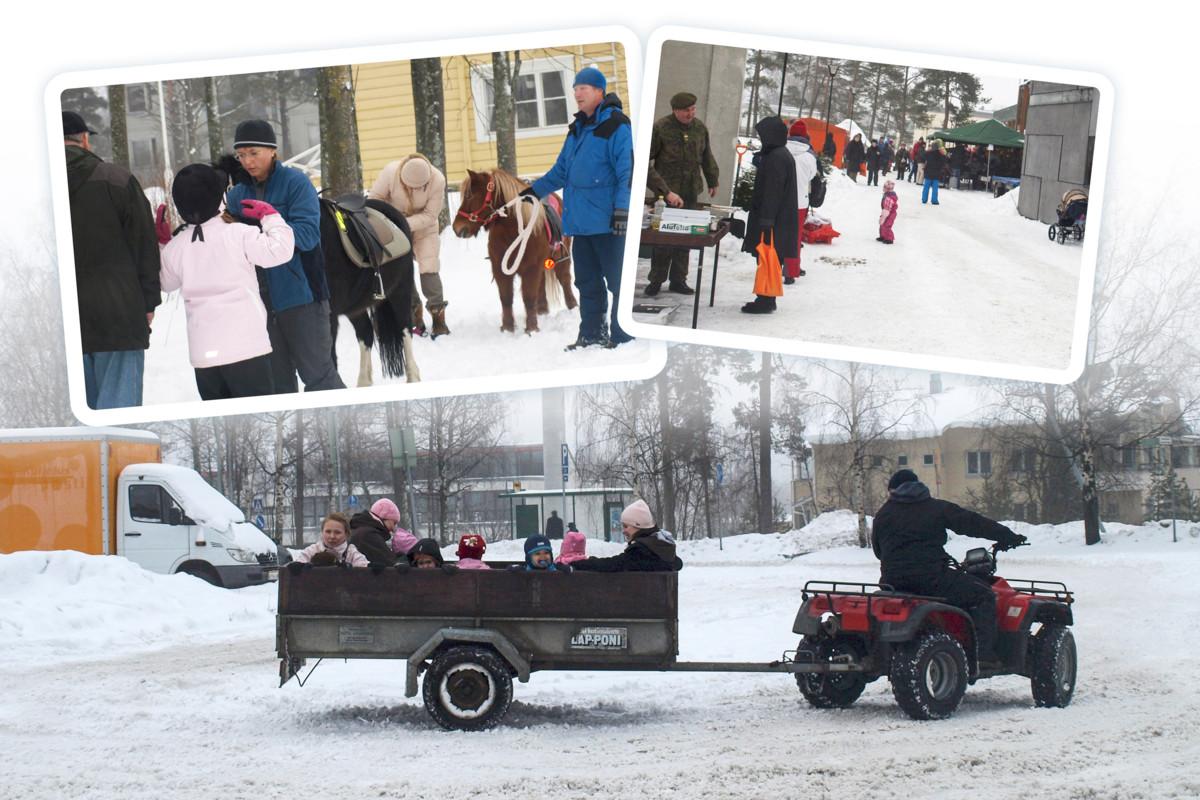
[[[512,86],[517,138],[562,133],[571,119],[572,98],[566,88],[571,85],[574,67],[570,58],[521,62],[521,73]],[[472,67],[470,86],[475,98],[475,138],[490,142],[496,138],[496,91],[490,62]]]

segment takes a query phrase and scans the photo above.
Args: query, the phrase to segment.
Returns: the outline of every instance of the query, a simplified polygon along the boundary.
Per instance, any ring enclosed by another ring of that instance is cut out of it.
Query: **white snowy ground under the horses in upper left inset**
[[[426,337],[414,342],[422,381],[463,378],[486,381],[499,375],[581,368],[611,368],[612,379],[620,379],[628,375],[630,367],[644,367],[659,354],[652,343],[644,341],[630,342],[612,350],[588,348],[566,353],[564,348],[578,335],[580,315],[577,311],[565,308],[541,317],[540,332],[526,336],[520,284],[514,307],[518,332],[502,332],[500,300],[486,258],[487,241],[482,236],[460,240],[450,228],[443,231],[440,275],[445,299],[450,303],[446,325],[451,335],[437,341]],[[427,313],[426,324],[430,324]],[[373,353],[372,361],[374,385],[403,383],[403,378],[384,378],[378,350]],[[359,380],[359,344],[344,317],[338,325],[337,366],[342,381],[355,386]],[[486,385],[480,391],[485,389]],[[155,315],[150,349],[146,351],[144,393],[145,405],[199,399],[194,373],[187,360],[187,324],[184,301],[178,291],[164,297]]]

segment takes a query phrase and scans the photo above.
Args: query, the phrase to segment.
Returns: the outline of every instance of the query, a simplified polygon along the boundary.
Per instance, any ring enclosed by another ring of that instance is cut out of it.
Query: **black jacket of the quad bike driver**
[[[901,578],[944,570],[949,559],[942,549],[947,529],[1004,546],[1019,541],[1016,534],[998,522],[930,497],[920,481],[901,483],[888,494],[871,525],[871,548],[880,559],[883,583],[904,583]]]

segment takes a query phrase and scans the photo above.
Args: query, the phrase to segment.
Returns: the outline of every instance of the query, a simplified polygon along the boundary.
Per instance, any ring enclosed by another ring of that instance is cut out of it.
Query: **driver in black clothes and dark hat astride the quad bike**
[[[967,612],[976,627],[979,661],[995,662],[996,595],[979,578],[949,567],[950,557],[942,549],[947,529],[989,539],[1006,549],[1026,541],[998,522],[930,497],[916,473],[901,469],[888,481],[888,500],[871,525],[880,582],[898,591],[944,597]]]

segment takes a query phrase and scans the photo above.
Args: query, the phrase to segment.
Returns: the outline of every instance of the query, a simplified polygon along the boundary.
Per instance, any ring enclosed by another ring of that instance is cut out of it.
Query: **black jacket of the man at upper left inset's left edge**
[[[150,347],[146,314],[162,302],[150,201],[128,170],[68,145],[67,188],[84,353]]]

